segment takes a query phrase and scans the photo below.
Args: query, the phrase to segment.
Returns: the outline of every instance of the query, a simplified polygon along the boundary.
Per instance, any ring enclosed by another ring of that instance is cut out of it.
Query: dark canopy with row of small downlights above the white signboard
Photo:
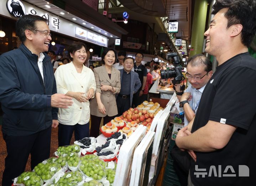
[[[88,28],[94,32],[105,35],[106,37],[121,38],[122,34],[127,34],[125,29],[121,28],[108,18],[101,15],[99,12],[91,9],[82,1],[63,0],[64,4],[62,9],[54,4],[51,4],[50,0],[23,0],[32,5],[39,7],[47,12],[51,12],[54,15],[62,17],[68,21],[72,21],[82,27]],[[47,7],[48,5],[49,7]],[[61,13],[62,12],[62,13]],[[63,14],[64,13],[64,14]],[[74,20],[76,19],[76,20]],[[68,29],[68,28],[67,28]]]

